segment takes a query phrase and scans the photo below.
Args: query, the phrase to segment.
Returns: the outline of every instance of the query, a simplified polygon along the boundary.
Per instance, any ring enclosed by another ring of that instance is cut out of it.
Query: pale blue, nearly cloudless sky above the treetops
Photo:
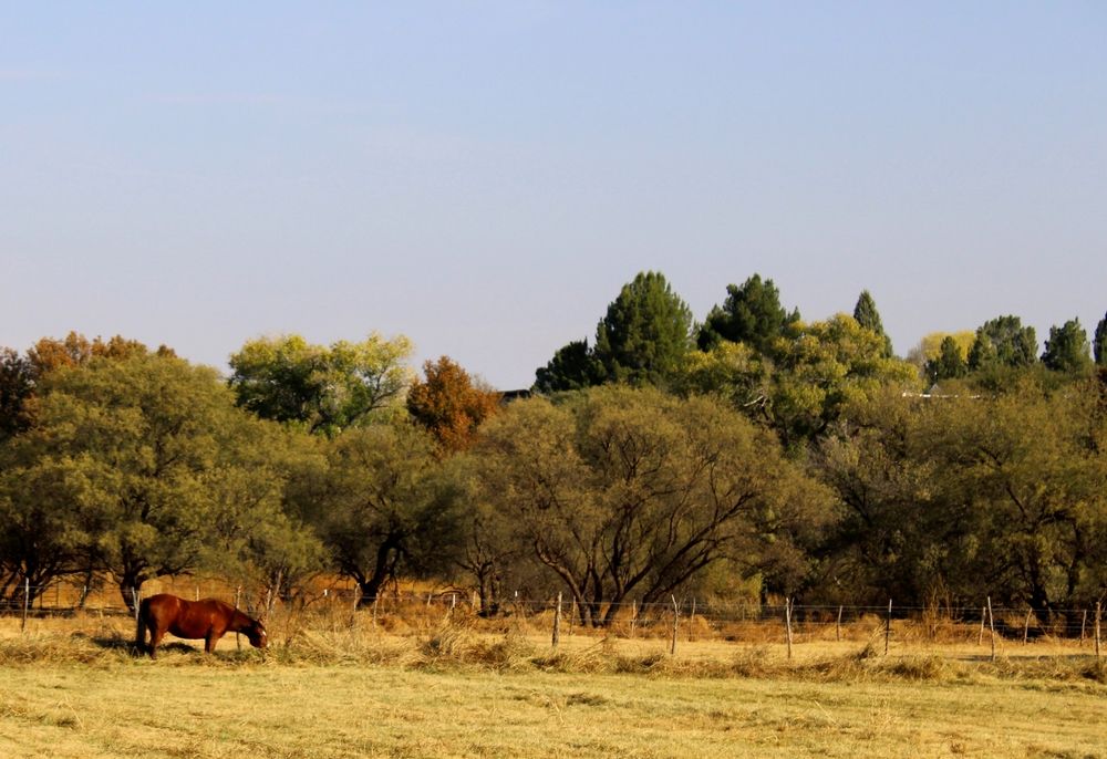
[[[1107,312],[1107,2],[0,4],[0,345],[403,333],[500,388],[665,274],[896,350]]]

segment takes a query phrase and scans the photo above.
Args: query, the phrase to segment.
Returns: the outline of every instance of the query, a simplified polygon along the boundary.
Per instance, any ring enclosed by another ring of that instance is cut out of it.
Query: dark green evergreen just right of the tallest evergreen
[[[799,311],[787,312],[773,280],[754,274],[742,287],[726,285],[726,300],[714,306],[704,322],[697,343],[708,350],[721,340],[746,343],[761,353],[772,350],[774,341],[799,322]]]

